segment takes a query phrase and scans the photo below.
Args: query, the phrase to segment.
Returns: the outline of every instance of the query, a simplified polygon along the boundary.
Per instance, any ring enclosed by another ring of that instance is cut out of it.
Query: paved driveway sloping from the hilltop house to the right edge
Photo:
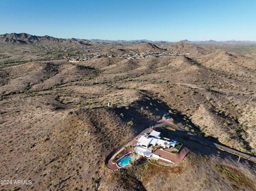
[[[183,130],[183,129],[181,129],[181,128],[177,128],[177,127],[175,127],[175,126],[169,124],[169,123],[166,122],[165,120],[159,120],[158,122],[156,122],[156,123],[153,124],[153,125],[154,125],[154,128],[159,128],[159,127],[162,126],[162,125],[171,126],[172,128],[178,130],[179,132],[181,132],[181,133],[183,133],[183,134],[186,134],[187,136],[191,137],[192,139],[195,139],[195,140],[199,140],[199,141],[201,141],[201,142],[204,142],[204,143],[207,144],[208,146],[211,146],[211,147],[214,147],[214,148],[221,148],[221,149],[223,149],[223,150],[225,150],[225,151],[227,151],[227,152],[230,152],[230,153],[233,153],[233,154],[237,154],[237,155],[243,156],[243,157],[246,158],[246,159],[250,159],[250,160],[256,162],[256,157],[254,157],[254,156],[251,156],[251,155],[246,154],[246,153],[242,153],[242,152],[240,152],[240,151],[238,151],[238,150],[234,150],[234,149],[232,149],[232,148],[228,148],[228,147],[223,146],[223,145],[220,145],[220,144],[218,144],[218,143],[214,143],[214,142],[212,142],[212,141],[210,141],[210,140],[207,140],[207,139],[205,139],[205,138],[202,138],[201,136],[194,135],[194,134],[192,134],[192,133],[190,133],[190,132],[187,132],[187,131],[185,131],[185,130]]]

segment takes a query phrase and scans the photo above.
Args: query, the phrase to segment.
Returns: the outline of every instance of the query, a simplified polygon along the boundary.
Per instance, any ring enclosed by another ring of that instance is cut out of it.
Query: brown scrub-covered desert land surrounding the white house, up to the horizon
[[[0,94],[1,180],[32,181],[1,191],[255,190],[256,43],[9,33],[0,35]],[[164,114],[173,121],[157,125]],[[189,152],[108,169],[147,128]]]

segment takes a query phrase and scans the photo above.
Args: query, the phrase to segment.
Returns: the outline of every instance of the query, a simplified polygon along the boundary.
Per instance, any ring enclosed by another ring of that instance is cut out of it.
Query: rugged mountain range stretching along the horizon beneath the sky
[[[229,44],[229,45],[250,45],[256,44],[256,41],[188,41],[182,40],[180,42],[188,44],[205,44],[205,45],[218,45],[218,44]],[[72,47],[83,47],[83,46],[97,46],[107,45],[108,43],[174,43],[169,41],[151,41],[151,40],[102,40],[102,39],[64,39],[55,38],[48,35],[36,36],[27,33],[6,33],[0,35],[0,44],[34,44],[34,45],[48,45],[48,46],[72,46]]]

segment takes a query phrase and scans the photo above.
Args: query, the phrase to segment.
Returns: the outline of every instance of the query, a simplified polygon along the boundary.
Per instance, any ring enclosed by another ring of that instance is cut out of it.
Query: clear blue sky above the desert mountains
[[[0,0],[0,34],[255,40],[256,0]]]

